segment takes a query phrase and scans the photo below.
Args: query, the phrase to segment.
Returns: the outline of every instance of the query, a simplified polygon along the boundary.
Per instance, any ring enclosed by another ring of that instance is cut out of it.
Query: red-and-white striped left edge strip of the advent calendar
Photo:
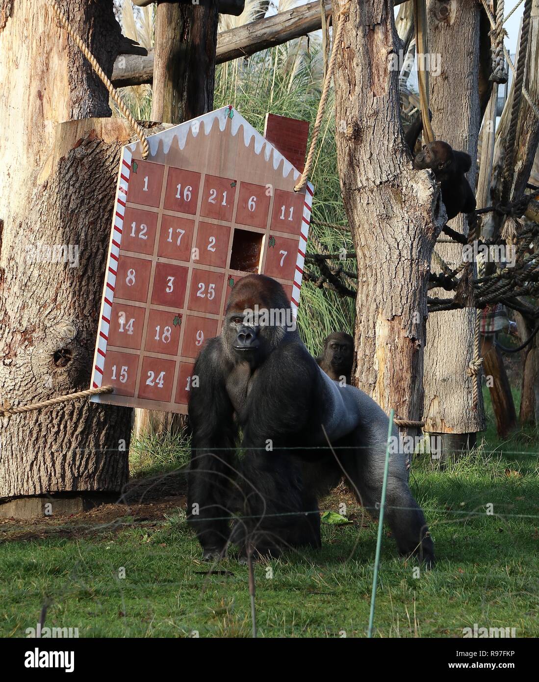
[[[114,218],[112,219],[112,235],[110,237],[110,246],[108,251],[106,280],[103,293],[103,302],[101,306],[101,319],[99,320],[97,344],[95,346],[95,364],[91,383],[93,388],[101,387],[103,381],[105,353],[107,350],[108,331],[110,329],[110,314],[112,312],[112,301],[114,300],[114,287],[116,286],[116,273],[123,231],[123,216],[125,215],[125,203],[127,201],[127,187],[129,185],[129,174],[131,173],[132,158],[132,151],[127,147],[124,147],[119,170],[116,205],[114,205]]]

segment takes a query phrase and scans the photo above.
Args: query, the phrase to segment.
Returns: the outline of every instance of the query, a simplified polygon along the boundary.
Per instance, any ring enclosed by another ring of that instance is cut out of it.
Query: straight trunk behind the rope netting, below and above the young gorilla
[[[480,125],[478,95],[480,12],[474,2],[451,2],[445,20],[440,18],[437,0],[429,0],[427,24],[429,53],[441,55],[441,73],[429,78],[432,127],[438,140],[477,158]],[[468,173],[475,186],[476,164]],[[467,234],[463,216],[452,227]],[[462,248],[437,244],[437,252],[450,267],[462,261]],[[448,297],[440,289],[433,297]],[[466,434],[484,430],[482,394],[477,409],[472,405],[472,382],[467,374],[474,349],[475,309],[437,312],[427,322],[425,352],[425,421],[435,433]],[[468,439],[459,439],[468,442]]]

